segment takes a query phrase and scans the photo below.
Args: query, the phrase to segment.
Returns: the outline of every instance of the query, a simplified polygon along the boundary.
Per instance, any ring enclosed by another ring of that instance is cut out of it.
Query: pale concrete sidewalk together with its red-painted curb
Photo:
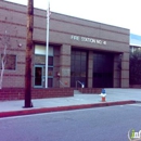
[[[0,101],[0,117],[131,104],[141,101],[141,89],[105,89],[106,102],[98,94],[75,94],[68,98],[31,100],[34,107],[23,108],[24,100]]]

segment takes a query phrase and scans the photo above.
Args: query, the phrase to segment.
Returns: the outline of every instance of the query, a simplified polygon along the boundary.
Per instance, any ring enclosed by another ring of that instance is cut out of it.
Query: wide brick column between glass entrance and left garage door
[[[66,87],[70,87],[70,46],[63,44],[60,50],[60,80]],[[60,84],[60,87],[63,87]]]

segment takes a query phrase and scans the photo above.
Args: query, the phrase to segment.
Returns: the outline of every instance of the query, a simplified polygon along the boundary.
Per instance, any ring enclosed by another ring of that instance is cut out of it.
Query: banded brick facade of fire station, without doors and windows
[[[0,1],[0,36],[4,33],[4,28],[10,30],[12,44],[10,53],[17,55],[16,69],[13,72],[5,70],[3,87],[24,87],[26,10],[24,5]],[[34,41],[35,43],[46,43],[46,11],[35,9],[34,13]],[[56,52],[54,60],[59,63],[54,63],[54,73],[57,70],[61,73],[60,80],[67,87],[69,87],[70,82],[70,51],[73,47],[89,51],[88,87],[92,86],[91,57],[93,51],[115,53],[114,87],[129,87],[128,29],[52,12],[50,15],[49,42],[60,47],[60,49],[54,49]],[[21,48],[18,43],[22,43]],[[116,57],[119,54],[123,54],[120,72],[116,69]],[[56,79],[54,74],[54,87],[61,87]]]

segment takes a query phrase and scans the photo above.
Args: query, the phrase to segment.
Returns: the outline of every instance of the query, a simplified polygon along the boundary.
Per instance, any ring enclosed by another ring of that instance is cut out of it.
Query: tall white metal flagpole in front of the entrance
[[[46,46],[46,88],[48,88],[48,52],[49,52],[49,23],[50,23],[50,0],[47,10],[47,46]]]

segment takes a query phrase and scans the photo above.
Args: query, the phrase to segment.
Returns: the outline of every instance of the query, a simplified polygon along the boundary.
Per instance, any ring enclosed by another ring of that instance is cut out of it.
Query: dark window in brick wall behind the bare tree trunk
[[[0,57],[0,69],[2,68],[2,55]],[[14,70],[16,68],[16,55],[7,54],[4,69]]]

